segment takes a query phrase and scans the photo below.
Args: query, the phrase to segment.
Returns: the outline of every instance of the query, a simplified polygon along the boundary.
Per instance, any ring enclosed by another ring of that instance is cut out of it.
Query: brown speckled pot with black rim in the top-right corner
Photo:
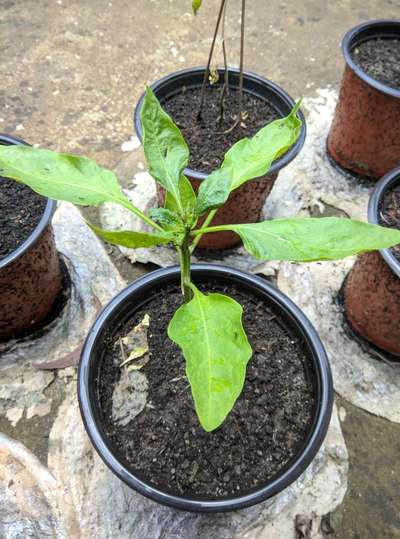
[[[370,39],[393,37],[400,38],[399,20],[369,21],[343,38],[346,68],[327,141],[341,167],[376,179],[400,163],[400,90],[367,75],[351,51]]]

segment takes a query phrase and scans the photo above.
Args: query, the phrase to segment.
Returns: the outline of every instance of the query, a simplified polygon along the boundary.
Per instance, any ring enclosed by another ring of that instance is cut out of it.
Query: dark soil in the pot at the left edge
[[[0,260],[17,249],[39,224],[47,199],[0,177]]]

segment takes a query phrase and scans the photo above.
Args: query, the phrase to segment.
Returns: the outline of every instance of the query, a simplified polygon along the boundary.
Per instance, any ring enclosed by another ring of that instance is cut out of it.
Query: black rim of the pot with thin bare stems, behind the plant
[[[185,77],[187,75],[197,75],[199,73],[204,73],[205,69],[206,68],[203,66],[203,67],[191,67],[191,68],[181,69],[179,71],[174,71],[173,73],[170,73],[170,74],[166,75],[165,77],[162,77],[161,79],[159,79],[156,82],[152,83],[150,85],[150,88],[157,95],[157,90],[159,88],[161,88],[162,86],[164,86],[165,84],[168,84],[171,81],[171,79],[174,79],[176,77]],[[235,74],[239,73],[239,69],[236,69],[236,68],[233,68],[233,67],[229,67],[228,70],[229,70],[229,73],[235,73]],[[218,68],[218,72],[223,73],[224,69],[223,68]],[[276,83],[262,77],[261,75],[258,75],[257,73],[253,73],[252,71],[244,71],[243,76],[244,76],[245,81],[247,79],[249,81],[254,81],[254,82],[258,83],[258,84],[262,84],[264,86],[267,86],[270,90],[275,92],[282,99],[282,101],[284,101],[288,106],[290,106],[290,108],[293,108],[295,106],[296,103],[295,103],[294,99],[292,97],[290,97],[290,95],[288,93],[286,93],[285,90],[283,90]],[[136,134],[137,134],[140,142],[142,142],[142,138],[143,138],[142,137],[142,125],[141,125],[141,121],[140,121],[140,112],[141,112],[141,109],[142,109],[142,106],[143,106],[143,101],[144,101],[145,95],[146,94],[144,92],[140,96],[139,101],[137,102],[137,105],[135,107],[135,112],[134,112],[135,131],[136,131]],[[272,163],[270,169],[267,172],[267,175],[272,175],[272,174],[278,173],[282,168],[284,168],[291,161],[293,161],[293,159],[299,154],[300,150],[304,146],[304,142],[305,142],[305,139],[306,139],[306,132],[307,132],[306,120],[305,120],[304,114],[302,113],[301,110],[299,110],[297,114],[299,115],[299,117],[301,119],[301,122],[302,122],[300,136],[297,139],[296,143],[284,155],[282,155],[281,157],[279,157],[278,159],[276,159]],[[191,178],[195,178],[196,180],[200,180],[200,181],[205,180],[207,178],[207,176],[209,175],[209,173],[200,172],[198,170],[194,170],[194,169],[189,168],[189,167],[185,168],[184,174],[187,175],[187,176],[190,176]]]

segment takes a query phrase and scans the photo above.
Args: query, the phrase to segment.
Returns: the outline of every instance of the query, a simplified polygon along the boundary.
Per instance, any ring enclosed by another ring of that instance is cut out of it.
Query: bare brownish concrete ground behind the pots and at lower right
[[[239,0],[230,3],[235,65]],[[190,0],[0,0],[0,132],[116,166],[145,84],[205,63],[217,2],[204,4],[194,18]],[[294,97],[337,87],[344,32],[367,19],[396,17],[400,9],[399,0],[248,4],[246,68]],[[145,271],[120,267],[130,277]],[[336,536],[400,537],[400,426],[339,404],[351,465],[348,494],[331,516]],[[28,423],[16,430],[1,418],[0,430],[45,459],[46,443]],[[49,426],[40,427],[45,438]]]

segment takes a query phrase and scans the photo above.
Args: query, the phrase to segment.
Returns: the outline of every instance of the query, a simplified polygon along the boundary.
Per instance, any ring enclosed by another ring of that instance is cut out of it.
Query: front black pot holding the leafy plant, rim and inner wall
[[[297,454],[262,487],[249,494],[238,494],[220,500],[175,495],[169,491],[163,491],[140,479],[134,470],[130,469],[129,465],[118,456],[118,451],[104,432],[102,411],[98,402],[96,380],[98,380],[103,361],[103,340],[107,336],[109,338],[121,323],[147,303],[160,288],[170,284],[179,284],[178,267],[161,269],[138,279],[120,292],[99,315],[82,351],[78,373],[79,403],[86,430],[95,449],[107,466],[131,488],[156,502],[176,509],[205,513],[231,511],[254,505],[274,496],[293,483],[308,467],[318,452],[329,426],[333,402],[332,377],[326,352],[315,329],[302,311],[271,284],[239,270],[210,264],[194,265],[192,276],[194,282],[197,283],[207,282],[210,279],[222,283],[236,283],[242,289],[258,295],[268,302],[273,310],[279,312],[288,327],[303,340],[310,358],[310,376],[314,384],[316,408],[310,432]]]

